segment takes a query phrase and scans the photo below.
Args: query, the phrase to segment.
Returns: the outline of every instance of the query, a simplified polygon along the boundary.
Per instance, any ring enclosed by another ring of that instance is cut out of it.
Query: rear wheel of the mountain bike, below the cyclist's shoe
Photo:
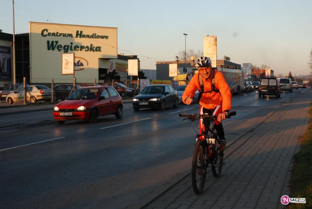
[[[211,145],[211,155],[213,159],[213,163],[211,164],[211,171],[213,176],[219,177],[221,175],[222,171],[222,165],[223,165],[223,150],[218,150],[218,140],[217,136],[218,134],[215,134],[216,138],[216,143],[215,144],[210,144]]]

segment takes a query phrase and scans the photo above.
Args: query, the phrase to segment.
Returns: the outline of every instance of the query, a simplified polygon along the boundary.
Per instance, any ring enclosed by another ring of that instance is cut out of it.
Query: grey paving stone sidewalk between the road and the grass
[[[307,128],[311,96],[301,93],[228,147],[221,176],[208,168],[202,194],[193,192],[189,175],[145,209],[285,208],[280,198],[290,194],[292,157]]]

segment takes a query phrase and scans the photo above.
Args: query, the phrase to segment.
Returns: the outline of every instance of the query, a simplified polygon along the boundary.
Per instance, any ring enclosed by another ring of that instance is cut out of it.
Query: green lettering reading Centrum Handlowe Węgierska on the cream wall
[[[62,32],[49,32],[48,29],[43,29],[41,31],[41,36],[47,37],[47,36],[55,36],[55,37],[70,37],[73,38],[74,35],[72,33],[62,33]],[[94,39],[108,39],[109,37],[106,35],[98,35],[96,33],[90,34],[83,34],[83,31],[76,31],[76,38],[94,38]],[[62,50],[67,53],[68,51],[85,51],[85,52],[102,52],[102,49],[100,46],[94,46],[93,44],[90,44],[90,46],[83,46],[83,45],[73,45],[73,42],[71,44],[62,45],[58,44],[58,41],[46,41],[48,50],[54,51],[55,49],[61,52]]]

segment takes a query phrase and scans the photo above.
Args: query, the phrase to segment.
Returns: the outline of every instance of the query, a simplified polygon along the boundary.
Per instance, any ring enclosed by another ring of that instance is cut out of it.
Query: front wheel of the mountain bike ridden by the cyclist
[[[192,187],[196,194],[202,193],[205,180],[207,167],[205,163],[205,155],[207,155],[206,141],[197,141],[193,153],[192,161]]]

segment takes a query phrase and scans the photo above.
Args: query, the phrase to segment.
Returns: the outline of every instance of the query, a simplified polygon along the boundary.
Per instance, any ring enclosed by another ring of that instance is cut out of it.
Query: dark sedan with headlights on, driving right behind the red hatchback
[[[165,107],[173,105],[178,108],[178,92],[170,85],[149,85],[142,92],[135,96],[132,101],[134,111],[140,108],[158,108],[164,110]]]

